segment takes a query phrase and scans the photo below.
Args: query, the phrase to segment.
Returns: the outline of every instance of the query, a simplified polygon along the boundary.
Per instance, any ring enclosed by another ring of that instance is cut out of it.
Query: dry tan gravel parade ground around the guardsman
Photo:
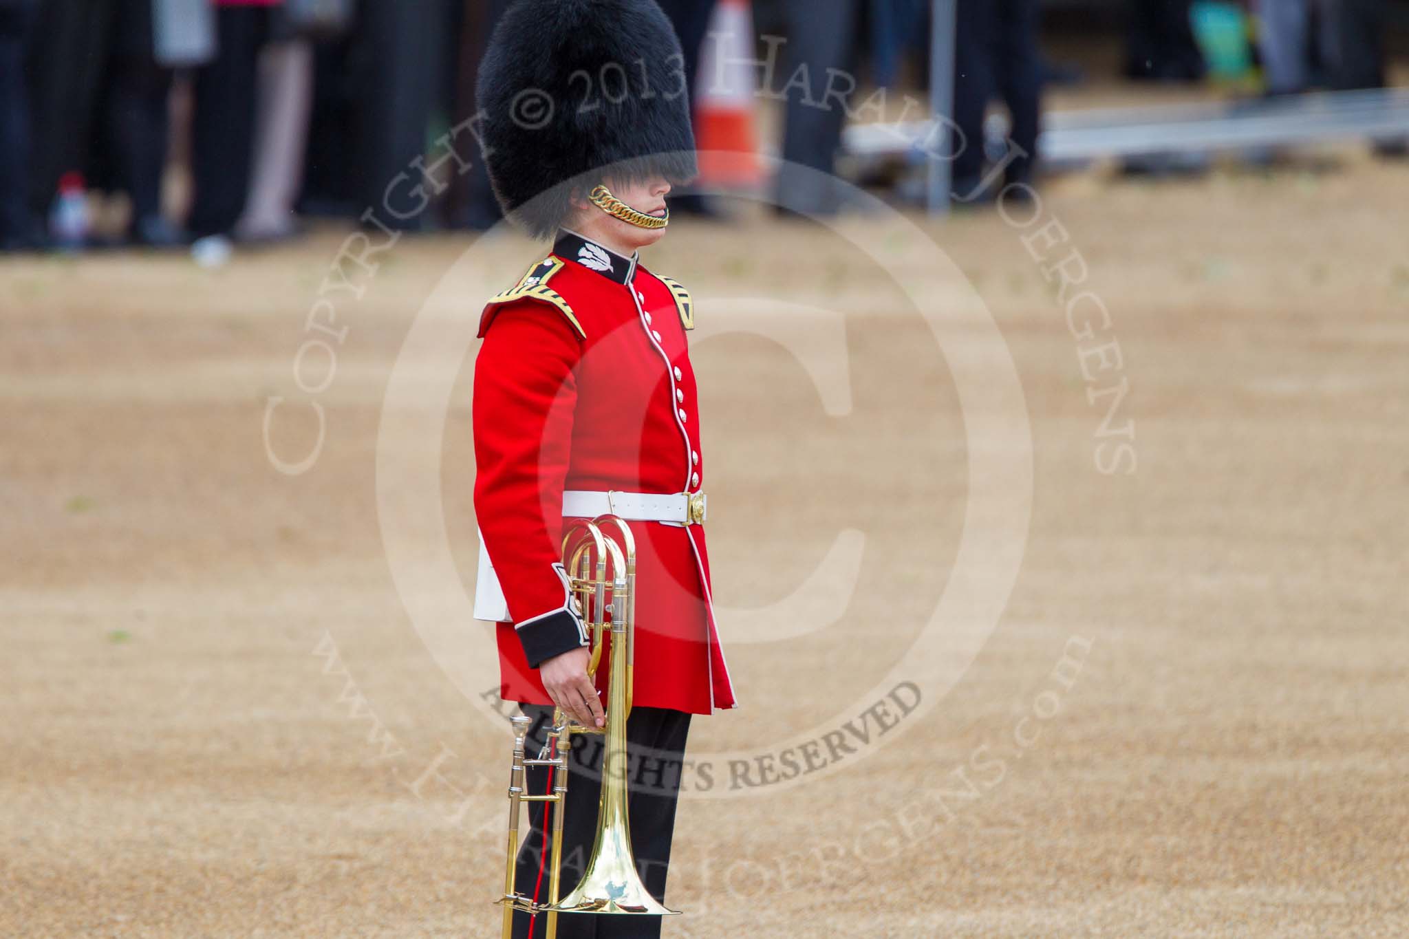
[[[1409,935],[1405,218],[1346,155],[678,224],[741,708],[666,935]],[[497,935],[469,389],[540,249],[344,237],[0,263],[3,936]]]

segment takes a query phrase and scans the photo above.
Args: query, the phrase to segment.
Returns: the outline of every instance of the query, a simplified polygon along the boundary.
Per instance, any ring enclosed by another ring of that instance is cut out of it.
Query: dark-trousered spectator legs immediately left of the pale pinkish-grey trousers
[[[221,6],[214,62],[196,70],[192,176],[196,196],[186,227],[197,238],[230,235],[245,207],[255,131],[256,65],[269,10]]]

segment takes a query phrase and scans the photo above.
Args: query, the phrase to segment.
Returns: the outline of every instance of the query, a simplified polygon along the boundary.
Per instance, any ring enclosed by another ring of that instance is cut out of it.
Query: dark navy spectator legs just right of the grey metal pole
[[[1043,61],[1037,49],[1037,0],[958,0],[954,49],[954,197],[974,201],[983,184],[983,117],[1002,97],[1012,115],[1005,186],[1030,186],[1041,122]],[[1022,196],[1023,190],[1013,190]]]

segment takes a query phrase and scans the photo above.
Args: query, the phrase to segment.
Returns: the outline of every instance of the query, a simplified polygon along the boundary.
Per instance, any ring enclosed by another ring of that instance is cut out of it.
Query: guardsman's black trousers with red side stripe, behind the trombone
[[[520,708],[533,719],[531,732],[524,743],[530,757],[537,756],[552,726],[552,708],[538,704],[521,704]],[[685,738],[689,735],[690,715],[665,708],[631,710],[626,725],[628,764],[627,781],[630,795],[627,812],[631,819],[631,850],[645,888],[657,900],[665,900],[665,874],[671,863],[671,838],[675,832],[675,805],[679,797],[681,773],[683,770]],[[562,881],[559,895],[566,895],[576,887],[586,867],[588,855],[597,825],[597,797],[602,793],[602,749],[604,738],[579,736],[573,742],[571,771],[568,774],[568,804],[562,829]],[[528,793],[541,795],[548,791],[548,767],[534,766],[526,771]],[[550,845],[544,838],[544,804],[526,805],[527,822],[520,821],[519,838],[519,893],[534,895],[538,880],[540,859],[542,884],[538,888],[540,902],[548,900],[547,860]],[[552,831],[552,819],[548,819]],[[530,919],[537,922],[530,924]],[[531,932],[530,932],[531,925]],[[541,939],[547,929],[547,918],[530,918],[514,914],[514,939]],[[657,939],[661,935],[659,916],[616,916],[592,914],[559,914],[559,939]]]

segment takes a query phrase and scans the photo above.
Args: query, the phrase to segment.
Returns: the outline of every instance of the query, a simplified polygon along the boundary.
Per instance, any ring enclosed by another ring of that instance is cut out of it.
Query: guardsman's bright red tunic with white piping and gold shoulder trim
[[[564,490],[700,491],[690,328],[679,284],[572,232],[485,308],[475,512],[511,617],[497,628],[504,700],[551,704],[538,664],[585,645],[561,572]],[[703,527],[631,529],[634,701],[692,714],[734,707]],[[603,659],[600,688],[606,679]]]

